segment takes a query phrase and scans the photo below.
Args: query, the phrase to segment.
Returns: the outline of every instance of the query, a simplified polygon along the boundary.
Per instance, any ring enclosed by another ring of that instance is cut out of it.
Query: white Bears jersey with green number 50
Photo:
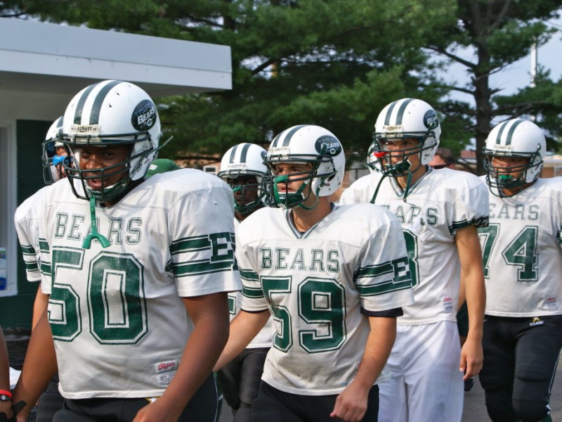
[[[151,177],[110,207],[55,184],[41,212],[41,276],[63,397],[154,397],[176,373],[192,321],[181,297],[240,290],[233,193],[199,170]],[[230,218],[225,218],[230,215]]]

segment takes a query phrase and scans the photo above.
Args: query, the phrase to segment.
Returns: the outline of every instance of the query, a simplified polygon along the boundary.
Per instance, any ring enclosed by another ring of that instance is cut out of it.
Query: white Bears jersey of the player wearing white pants
[[[380,172],[361,177],[340,203],[370,202],[381,177]],[[403,307],[398,324],[456,321],[460,264],[455,232],[488,224],[485,184],[468,172],[429,169],[405,199],[396,179],[386,177],[375,203],[400,220],[410,258],[415,304]]]

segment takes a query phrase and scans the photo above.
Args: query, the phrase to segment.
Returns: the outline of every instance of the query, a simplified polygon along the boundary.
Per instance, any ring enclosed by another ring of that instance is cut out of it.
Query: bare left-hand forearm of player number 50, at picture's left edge
[[[55,345],[51,335],[51,326],[47,320],[47,309],[45,309],[32,331],[22,373],[13,394],[14,403],[20,400],[27,403],[18,414],[18,421],[27,420],[27,415],[37,403],[41,392],[45,390],[56,370]]]

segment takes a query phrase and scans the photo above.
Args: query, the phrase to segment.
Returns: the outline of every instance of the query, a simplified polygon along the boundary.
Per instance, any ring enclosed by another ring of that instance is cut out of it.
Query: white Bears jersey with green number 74
[[[538,179],[510,198],[490,193],[490,226],[478,230],[486,314],[562,314],[561,230],[562,177]]]

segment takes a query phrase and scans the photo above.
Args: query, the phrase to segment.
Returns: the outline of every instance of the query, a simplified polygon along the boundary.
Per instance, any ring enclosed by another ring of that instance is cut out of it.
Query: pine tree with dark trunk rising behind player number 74
[[[469,82],[446,88],[473,96],[475,106],[445,101],[442,110],[451,120],[470,122],[466,129],[476,139],[477,173],[484,172],[481,151],[497,117],[535,116],[547,129],[551,148],[559,148],[554,141],[561,134],[562,79],[556,83],[548,73],[540,72],[535,87],[501,96],[499,89],[490,86],[490,75],[527,56],[533,44],[540,46],[551,37],[555,30],[544,21],[558,18],[561,1],[458,0],[457,4],[456,22],[434,32],[428,48],[463,65],[470,75]],[[473,49],[473,60],[459,54],[466,48]]]

